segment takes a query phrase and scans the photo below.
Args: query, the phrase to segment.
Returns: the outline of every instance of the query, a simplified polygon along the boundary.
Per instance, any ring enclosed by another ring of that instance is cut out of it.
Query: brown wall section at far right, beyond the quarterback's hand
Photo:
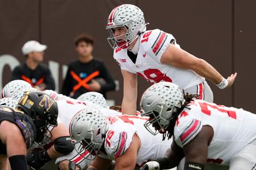
[[[256,1],[234,3],[234,69],[238,72],[234,104],[256,113]]]

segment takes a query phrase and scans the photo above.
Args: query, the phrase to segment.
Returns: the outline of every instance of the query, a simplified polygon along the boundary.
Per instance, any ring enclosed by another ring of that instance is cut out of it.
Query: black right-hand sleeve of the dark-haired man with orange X
[[[106,80],[106,85],[102,85],[101,90],[103,92],[115,90],[115,88],[116,88],[115,82],[103,62],[102,62],[102,66],[100,69],[101,69],[101,73],[102,73],[102,78],[104,78],[104,80]]]

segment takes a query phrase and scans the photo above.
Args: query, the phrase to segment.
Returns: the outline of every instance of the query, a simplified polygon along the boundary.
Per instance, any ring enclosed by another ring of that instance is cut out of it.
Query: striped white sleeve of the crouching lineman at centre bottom
[[[132,142],[132,137],[135,133],[135,131],[131,129],[131,127],[118,127],[118,129],[115,129],[116,131],[109,130],[107,132],[107,137],[104,144],[106,153],[108,154],[108,157],[112,160],[115,160],[116,158],[122,156],[127,148],[129,148]]]

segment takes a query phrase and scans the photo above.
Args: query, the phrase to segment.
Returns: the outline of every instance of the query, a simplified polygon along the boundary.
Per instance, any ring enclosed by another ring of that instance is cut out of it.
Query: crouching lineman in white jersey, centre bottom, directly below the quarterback
[[[170,141],[153,136],[143,127],[147,117],[121,115],[106,118],[100,110],[86,108],[70,122],[70,134],[83,157],[93,160],[88,169],[131,169],[143,162],[163,157]],[[86,153],[83,153],[83,150]]]

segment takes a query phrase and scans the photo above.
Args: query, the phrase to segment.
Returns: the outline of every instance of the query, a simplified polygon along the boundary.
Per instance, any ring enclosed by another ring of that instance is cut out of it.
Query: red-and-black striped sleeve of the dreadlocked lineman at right
[[[200,120],[190,115],[182,116],[182,113],[180,115],[174,127],[174,138],[177,145],[183,147],[192,141],[201,131],[202,124]]]

